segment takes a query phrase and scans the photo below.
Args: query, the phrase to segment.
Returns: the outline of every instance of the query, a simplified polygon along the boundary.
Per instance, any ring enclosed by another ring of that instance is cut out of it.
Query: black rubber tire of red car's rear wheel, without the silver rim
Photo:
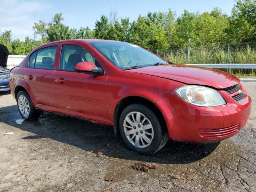
[[[20,96],[24,96],[26,98],[26,100],[28,101],[29,109],[30,109],[28,116],[24,116],[22,114],[22,112],[20,111],[20,108],[19,108],[19,105],[18,105],[18,100],[19,100]],[[24,118],[25,120],[36,120],[40,117],[42,112],[39,111],[39,110],[36,110],[36,108],[34,107],[28,93],[26,93],[24,91],[19,91],[18,94],[17,94],[16,102],[17,102],[17,106],[18,106],[18,111],[19,111],[20,115],[22,116],[22,118]]]

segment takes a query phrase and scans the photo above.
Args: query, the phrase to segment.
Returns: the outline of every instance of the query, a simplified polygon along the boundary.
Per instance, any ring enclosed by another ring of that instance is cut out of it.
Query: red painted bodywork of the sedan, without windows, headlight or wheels
[[[58,46],[54,70],[27,68],[28,58],[35,51],[33,50],[20,66],[10,73],[12,95],[15,97],[15,89],[21,86],[28,92],[38,109],[108,125],[114,125],[114,111],[122,99],[140,96],[159,108],[166,121],[170,138],[179,141],[223,140],[236,134],[238,131],[233,131],[234,128],[240,130],[250,115],[251,99],[242,84],[240,86],[246,95],[239,102],[232,98],[238,93],[229,95],[221,90],[240,83],[239,79],[231,74],[178,64],[120,70],[88,44],[92,41],[101,40],[64,40],[36,48],[35,50]],[[63,44],[74,44],[88,50],[100,62],[104,75],[60,71],[60,52]],[[189,104],[174,92],[174,89],[185,84],[216,88],[227,104],[217,107]],[[218,131],[220,134],[206,137],[202,134],[204,130]]]

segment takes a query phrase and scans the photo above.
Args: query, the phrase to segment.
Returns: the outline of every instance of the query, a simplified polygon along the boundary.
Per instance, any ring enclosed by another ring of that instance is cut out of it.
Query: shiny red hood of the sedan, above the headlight
[[[216,89],[227,88],[238,84],[240,81],[236,76],[220,70],[187,66],[184,64],[166,64],[131,69],[128,71],[167,78],[185,84],[210,86]]]

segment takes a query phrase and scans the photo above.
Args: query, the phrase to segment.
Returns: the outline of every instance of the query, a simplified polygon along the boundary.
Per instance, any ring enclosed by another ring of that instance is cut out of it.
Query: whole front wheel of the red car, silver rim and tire
[[[141,154],[153,154],[168,140],[168,134],[157,116],[146,106],[127,106],[119,123],[121,136],[126,145]]]

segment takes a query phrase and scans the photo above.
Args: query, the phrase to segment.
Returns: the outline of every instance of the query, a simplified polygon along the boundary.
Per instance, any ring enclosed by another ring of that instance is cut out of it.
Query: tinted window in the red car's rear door
[[[53,69],[57,46],[47,47],[37,51],[35,68]]]

